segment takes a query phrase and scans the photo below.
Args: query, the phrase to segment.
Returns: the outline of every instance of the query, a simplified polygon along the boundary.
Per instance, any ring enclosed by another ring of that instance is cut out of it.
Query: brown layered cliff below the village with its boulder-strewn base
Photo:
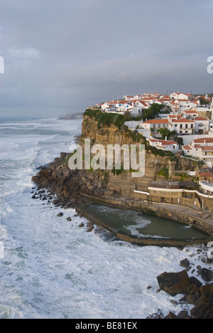
[[[84,117],[82,122],[82,135],[79,142],[82,147],[84,147],[84,139],[90,139],[91,145],[102,144],[106,148],[107,144],[145,143],[145,138],[136,139],[125,126],[121,129],[114,125],[98,126],[97,121],[90,117]],[[158,198],[157,201],[153,201],[151,196],[146,194],[151,181],[181,181],[183,178],[185,181],[192,180],[187,176],[187,172],[183,175],[182,173],[178,174],[177,170],[190,169],[192,171],[194,169],[199,171],[196,162],[190,162],[182,157],[173,160],[170,156],[160,156],[158,152],[153,154],[151,149],[146,147],[145,175],[133,178],[130,170],[119,170],[118,173],[115,170],[107,170],[107,168],[105,170],[70,170],[68,160],[67,154],[61,153],[60,158],[40,169],[32,179],[38,185],[33,199],[49,201],[54,199],[53,204],[56,206],[77,208],[79,211],[87,203],[123,207],[144,213],[153,213],[156,216],[188,225],[196,224],[200,230],[210,235],[213,234],[213,216],[209,213],[203,213],[203,211],[199,212],[199,215],[197,210],[193,208],[194,199],[184,199],[183,204],[191,206],[191,208],[187,208],[187,206],[171,204],[170,196],[165,198],[163,203],[160,203]],[[135,190],[140,191],[140,193],[135,192]],[[145,193],[141,194],[141,191]],[[44,192],[45,194],[43,194]],[[191,201],[193,202],[191,203]],[[165,206],[165,203],[169,203],[169,205]],[[184,208],[185,212],[183,212]],[[83,211],[81,212],[83,213]],[[121,239],[123,239],[122,237]],[[153,240],[151,241],[153,242]]]

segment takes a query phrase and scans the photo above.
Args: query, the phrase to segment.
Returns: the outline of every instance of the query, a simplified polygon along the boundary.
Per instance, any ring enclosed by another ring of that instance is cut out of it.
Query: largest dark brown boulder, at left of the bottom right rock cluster
[[[190,287],[190,277],[185,270],[178,273],[163,273],[157,277],[158,284],[162,290],[175,296],[177,294],[187,294]]]

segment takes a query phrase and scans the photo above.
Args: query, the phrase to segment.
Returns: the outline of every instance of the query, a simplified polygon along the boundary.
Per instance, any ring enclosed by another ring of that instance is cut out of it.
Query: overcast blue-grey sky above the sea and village
[[[0,117],[213,93],[213,0],[1,0]]]

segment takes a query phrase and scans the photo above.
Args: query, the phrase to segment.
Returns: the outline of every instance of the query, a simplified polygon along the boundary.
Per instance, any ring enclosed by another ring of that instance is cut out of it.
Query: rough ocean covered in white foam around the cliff
[[[157,292],[156,277],[182,270],[184,258],[196,267],[197,248],[107,240],[79,228],[85,220],[74,209],[32,199],[31,177],[75,148],[81,122],[0,119],[0,318],[144,319],[158,309],[178,314],[182,305],[170,301],[180,295]]]

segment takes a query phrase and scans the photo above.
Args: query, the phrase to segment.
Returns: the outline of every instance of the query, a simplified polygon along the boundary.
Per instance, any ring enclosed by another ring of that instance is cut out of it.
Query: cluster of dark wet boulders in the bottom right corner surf
[[[203,248],[204,252],[205,249]],[[202,253],[202,249],[197,249],[197,253]],[[185,270],[178,273],[164,272],[158,275],[158,285],[160,290],[167,292],[171,296],[180,295],[180,301],[175,302],[176,305],[181,304],[183,310],[178,314],[169,312],[165,317],[161,310],[158,310],[156,314],[151,314],[148,319],[213,319],[213,275],[212,268],[201,268],[200,265],[197,269],[192,269],[192,264],[188,259],[184,259],[180,262],[180,266],[185,265]],[[189,276],[187,271],[191,270],[191,273],[197,273],[201,277],[198,280],[195,276]],[[206,282],[205,275],[207,273],[208,282]],[[159,292],[159,291],[158,291]],[[173,302],[173,300],[171,300]],[[186,311],[185,308],[190,306],[190,310]]]

